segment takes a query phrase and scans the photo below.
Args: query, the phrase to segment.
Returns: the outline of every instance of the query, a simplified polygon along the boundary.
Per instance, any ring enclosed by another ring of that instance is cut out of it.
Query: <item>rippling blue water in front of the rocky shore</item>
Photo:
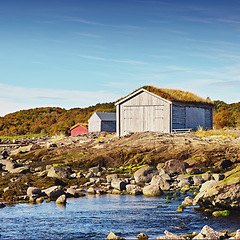
[[[176,234],[240,228],[240,214],[213,218],[194,211],[175,212],[182,200],[163,203],[162,197],[129,195],[87,196],[68,199],[66,207],[55,202],[17,204],[0,209],[0,239],[106,239],[110,231],[127,239],[143,232],[152,239],[164,230]],[[162,205],[162,206],[160,206]]]

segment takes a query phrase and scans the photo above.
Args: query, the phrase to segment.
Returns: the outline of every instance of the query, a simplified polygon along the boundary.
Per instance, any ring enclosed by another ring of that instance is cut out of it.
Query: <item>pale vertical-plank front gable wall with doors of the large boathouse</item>
[[[129,132],[170,132],[170,103],[145,91],[117,105],[118,135]]]

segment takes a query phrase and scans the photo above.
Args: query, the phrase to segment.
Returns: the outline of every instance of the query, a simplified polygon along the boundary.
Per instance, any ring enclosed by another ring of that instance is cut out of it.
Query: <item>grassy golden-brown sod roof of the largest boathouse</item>
[[[142,88],[170,102],[204,103],[209,105],[213,104],[213,102],[208,99],[201,98],[191,92],[182,91],[179,89],[167,89],[167,88],[157,88],[153,86],[143,86],[135,90],[133,93],[139,91]]]

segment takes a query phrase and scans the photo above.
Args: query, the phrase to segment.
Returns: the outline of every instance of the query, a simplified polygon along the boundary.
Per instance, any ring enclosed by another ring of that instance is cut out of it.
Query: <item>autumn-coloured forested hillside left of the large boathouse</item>
[[[87,126],[94,112],[115,112],[114,103],[98,103],[87,108],[66,110],[58,107],[21,110],[0,117],[0,136],[56,133],[70,134],[70,128],[77,123]]]

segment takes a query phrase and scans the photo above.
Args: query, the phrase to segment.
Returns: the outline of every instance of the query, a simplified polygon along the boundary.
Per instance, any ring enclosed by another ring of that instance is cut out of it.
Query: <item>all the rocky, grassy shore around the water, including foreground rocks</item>
[[[2,140],[0,170],[0,207],[44,200],[65,204],[67,198],[85,194],[156,196],[167,191],[174,198],[176,191],[192,191],[178,211],[189,204],[216,216],[240,210],[237,129],[207,137],[145,132]],[[209,239],[204,234],[189,238]],[[163,239],[173,238],[166,232]]]

